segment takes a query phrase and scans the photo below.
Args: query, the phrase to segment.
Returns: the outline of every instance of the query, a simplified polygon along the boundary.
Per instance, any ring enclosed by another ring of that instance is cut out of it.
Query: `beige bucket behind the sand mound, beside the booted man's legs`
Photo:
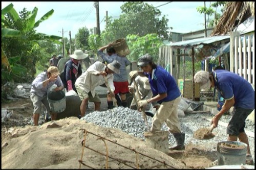
[[[168,154],[168,131],[144,132],[146,144],[158,151]]]

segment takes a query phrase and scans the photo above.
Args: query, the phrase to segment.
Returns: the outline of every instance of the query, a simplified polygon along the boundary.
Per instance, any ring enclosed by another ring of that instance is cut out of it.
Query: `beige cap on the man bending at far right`
[[[194,76],[195,83],[200,85],[201,90],[210,88],[209,72],[200,70]]]

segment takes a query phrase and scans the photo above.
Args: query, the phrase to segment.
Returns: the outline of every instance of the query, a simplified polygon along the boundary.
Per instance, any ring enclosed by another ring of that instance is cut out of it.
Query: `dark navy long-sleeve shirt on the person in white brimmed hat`
[[[72,59],[69,60],[65,64],[64,68],[64,77],[63,77],[63,84],[64,87],[68,90],[68,83],[67,81],[71,80],[72,88],[76,91],[75,82],[76,79],[82,74],[82,68],[79,63],[74,62]]]

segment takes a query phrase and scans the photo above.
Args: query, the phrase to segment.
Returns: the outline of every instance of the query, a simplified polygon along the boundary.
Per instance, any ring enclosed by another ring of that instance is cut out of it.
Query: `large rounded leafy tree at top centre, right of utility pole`
[[[113,22],[108,18],[106,32],[114,35],[114,39],[129,34],[145,36],[157,34],[160,38],[170,39],[165,15],[160,18],[161,11],[144,2],[126,2],[121,6],[122,14]],[[112,39],[112,38],[110,38]]]

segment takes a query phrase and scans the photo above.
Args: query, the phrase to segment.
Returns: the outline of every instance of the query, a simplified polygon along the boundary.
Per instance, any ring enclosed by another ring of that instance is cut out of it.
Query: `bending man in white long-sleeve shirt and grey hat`
[[[115,91],[113,73],[119,74],[121,64],[118,61],[105,65],[100,61],[92,64],[75,82],[77,93],[82,101],[80,106],[81,117],[86,114],[88,102],[94,102],[94,110],[100,110],[100,99],[95,88],[105,83],[104,76],[108,81],[112,93]],[[115,97],[115,96],[112,96]]]

